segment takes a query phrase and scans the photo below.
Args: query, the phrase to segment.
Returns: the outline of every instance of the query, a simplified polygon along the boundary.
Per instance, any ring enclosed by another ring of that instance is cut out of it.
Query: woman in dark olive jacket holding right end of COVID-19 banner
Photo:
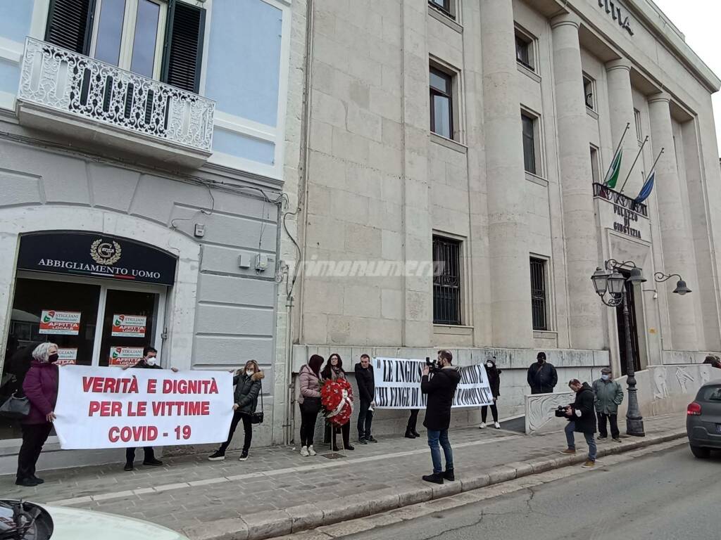
[[[250,443],[253,440],[253,424],[250,420],[252,414],[255,413],[255,409],[258,406],[258,396],[262,391],[261,381],[264,378],[265,374],[260,371],[260,366],[258,366],[258,363],[255,360],[247,361],[242,372],[233,377],[233,384],[235,386],[235,402],[233,404],[234,414],[233,420],[230,424],[228,440],[221,444],[221,447],[214,451],[213,454],[208,456],[208,459],[211,462],[225,459],[225,452],[233,440],[235,428],[238,426],[240,420],[243,420],[245,438],[243,441],[243,451],[240,454],[239,461],[244,462],[248,459]]]

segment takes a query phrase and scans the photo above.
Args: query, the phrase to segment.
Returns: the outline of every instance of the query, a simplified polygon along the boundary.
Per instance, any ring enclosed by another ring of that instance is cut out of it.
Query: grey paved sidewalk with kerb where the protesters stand
[[[684,436],[684,426],[681,413],[646,418],[645,438],[622,436],[621,444],[599,442],[599,456]],[[355,444],[355,451],[345,451],[336,459],[322,446],[322,454],[314,458],[303,458],[290,448],[251,449],[247,462],[238,462],[238,452],[229,452],[224,462],[208,462],[207,455],[180,456],[167,459],[164,467],[140,466],[134,472],[124,472],[117,464],[43,471],[45,484],[31,488],[15,486],[14,477],[4,476],[0,492],[8,498],[140,518],[182,531],[191,539],[262,539],[585,458],[580,434],[579,454],[561,456],[562,432],[525,436],[503,429],[468,428],[451,433],[459,481],[429,485],[420,480],[431,469],[423,435],[415,440],[395,437],[379,444]]]

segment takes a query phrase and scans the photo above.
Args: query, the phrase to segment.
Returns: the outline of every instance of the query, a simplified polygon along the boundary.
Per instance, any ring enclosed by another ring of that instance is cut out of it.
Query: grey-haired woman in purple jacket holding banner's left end
[[[58,346],[40,343],[32,351],[32,364],[22,389],[30,400],[30,414],[22,419],[22,446],[17,454],[17,485],[33,487],[44,480],[35,476],[35,464],[48,440],[58,400]]]

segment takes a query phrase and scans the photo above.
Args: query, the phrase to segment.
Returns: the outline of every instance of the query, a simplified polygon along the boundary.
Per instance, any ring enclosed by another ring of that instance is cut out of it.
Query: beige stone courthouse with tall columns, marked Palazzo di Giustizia
[[[721,350],[720,81],[653,1],[309,4],[294,372],[316,351],[350,370],[363,352],[495,356],[508,417],[539,350],[557,390],[628,355]],[[435,276],[378,271],[431,258]],[[647,279],[628,288],[630,350],[590,280],[610,258]]]

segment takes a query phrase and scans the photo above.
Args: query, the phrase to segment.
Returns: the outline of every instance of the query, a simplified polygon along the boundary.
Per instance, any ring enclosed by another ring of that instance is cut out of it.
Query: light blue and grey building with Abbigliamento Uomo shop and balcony
[[[92,366],[151,345],[179,369],[257,359],[272,417],[291,27],[290,0],[0,3],[0,398],[27,343]],[[17,423],[0,446],[9,472]]]

